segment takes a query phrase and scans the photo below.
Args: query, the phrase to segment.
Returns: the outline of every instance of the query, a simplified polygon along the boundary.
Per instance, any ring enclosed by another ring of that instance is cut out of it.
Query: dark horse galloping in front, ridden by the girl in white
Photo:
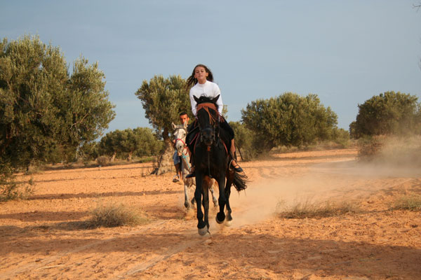
[[[229,195],[231,186],[236,190],[246,189],[246,176],[238,174],[230,169],[232,157],[228,154],[229,140],[227,132],[220,128],[220,121],[225,121],[218,113],[215,102],[218,97],[194,97],[197,102],[197,122],[199,133],[192,142],[190,148],[194,151],[193,157],[196,162],[196,190],[194,198],[197,209],[197,228],[199,235],[206,235],[209,230],[209,182],[215,179],[218,182],[220,211],[216,215],[217,223],[229,223],[232,221],[231,207],[229,207]],[[200,205],[203,205],[204,216]],[[225,206],[227,215],[225,215]]]

